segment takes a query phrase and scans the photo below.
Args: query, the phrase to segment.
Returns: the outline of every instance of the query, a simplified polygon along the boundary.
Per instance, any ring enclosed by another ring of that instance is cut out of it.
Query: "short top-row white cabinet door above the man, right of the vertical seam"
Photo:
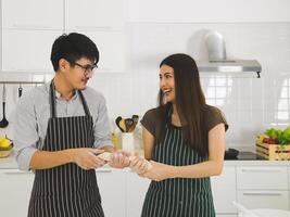
[[[121,30],[123,21],[123,0],[65,0],[66,31]]]

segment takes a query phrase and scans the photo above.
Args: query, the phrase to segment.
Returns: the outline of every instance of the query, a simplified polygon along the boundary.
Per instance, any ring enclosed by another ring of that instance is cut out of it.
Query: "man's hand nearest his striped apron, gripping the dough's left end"
[[[97,154],[103,152],[103,150],[88,148],[72,149],[72,162],[83,169],[96,169],[105,164],[103,159],[97,156]]]

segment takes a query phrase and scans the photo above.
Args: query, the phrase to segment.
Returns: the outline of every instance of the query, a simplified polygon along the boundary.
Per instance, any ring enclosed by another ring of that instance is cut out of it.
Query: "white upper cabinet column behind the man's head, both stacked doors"
[[[65,0],[65,33],[87,35],[100,53],[98,72],[125,67],[123,0]]]

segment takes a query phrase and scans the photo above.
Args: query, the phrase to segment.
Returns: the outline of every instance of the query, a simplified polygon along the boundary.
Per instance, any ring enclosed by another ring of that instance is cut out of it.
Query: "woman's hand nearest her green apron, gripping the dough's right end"
[[[174,178],[173,177],[173,168],[174,166],[157,163],[154,161],[150,161],[151,168],[146,173],[141,174],[141,177],[149,178],[153,181],[162,181],[164,179]]]

